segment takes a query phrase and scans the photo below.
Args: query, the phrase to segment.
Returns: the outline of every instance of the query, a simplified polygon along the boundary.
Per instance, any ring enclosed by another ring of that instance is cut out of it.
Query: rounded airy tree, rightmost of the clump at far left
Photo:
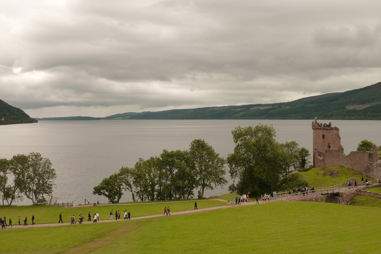
[[[43,195],[51,195],[53,192],[53,180],[57,177],[55,169],[48,158],[43,158],[40,153],[29,153],[27,155],[27,168],[19,173],[19,190],[33,204],[44,201]]]

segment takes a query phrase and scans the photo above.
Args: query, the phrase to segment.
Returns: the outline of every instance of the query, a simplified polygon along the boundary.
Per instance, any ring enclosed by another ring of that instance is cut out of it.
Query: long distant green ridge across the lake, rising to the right
[[[127,112],[108,117],[36,118],[37,120],[184,120],[184,119],[333,119],[381,120],[381,82],[342,93],[304,97],[291,102],[249,104],[158,112]],[[58,119],[59,118],[59,119]],[[86,119],[85,119],[86,118]],[[74,119],[70,119],[74,120]]]

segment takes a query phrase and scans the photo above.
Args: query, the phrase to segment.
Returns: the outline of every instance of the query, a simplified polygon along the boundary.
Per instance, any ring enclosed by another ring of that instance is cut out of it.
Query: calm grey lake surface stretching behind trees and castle
[[[319,120],[328,123],[330,120]],[[122,166],[133,167],[139,158],[158,156],[163,149],[186,150],[194,139],[205,139],[226,158],[233,152],[231,130],[236,126],[272,124],[277,141],[293,141],[312,152],[312,120],[97,120],[40,121],[32,124],[0,125],[0,158],[39,152],[53,163],[58,175],[53,196],[59,202],[107,203],[94,196],[93,187]],[[347,154],[368,139],[381,145],[381,121],[332,120],[340,129]],[[228,172],[228,169],[226,169]],[[207,190],[205,196],[228,193],[227,187]],[[197,190],[195,190],[197,193]],[[132,201],[130,193],[121,202]],[[24,198],[18,204],[31,204]]]

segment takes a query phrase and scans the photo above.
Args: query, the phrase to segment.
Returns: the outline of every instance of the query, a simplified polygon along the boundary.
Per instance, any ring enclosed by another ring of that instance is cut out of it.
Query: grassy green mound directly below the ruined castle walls
[[[331,173],[333,170],[338,171],[336,177],[332,177]],[[322,168],[313,168],[306,172],[300,172],[304,179],[308,182],[309,186],[314,187],[327,187],[333,186],[335,184],[346,184],[349,178],[356,178],[357,183],[361,183],[361,177],[366,178],[360,171],[357,171],[352,168],[344,168],[341,165],[322,167]],[[368,179],[371,182],[375,182],[373,178]],[[354,183],[353,183],[354,184]]]

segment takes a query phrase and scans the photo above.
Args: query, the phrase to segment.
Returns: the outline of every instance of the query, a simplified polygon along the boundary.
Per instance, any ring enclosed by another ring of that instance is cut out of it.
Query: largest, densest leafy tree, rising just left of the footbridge
[[[277,189],[287,172],[287,154],[275,141],[275,129],[259,124],[232,131],[234,153],[227,157],[232,179],[238,177],[239,193],[257,196]]]

